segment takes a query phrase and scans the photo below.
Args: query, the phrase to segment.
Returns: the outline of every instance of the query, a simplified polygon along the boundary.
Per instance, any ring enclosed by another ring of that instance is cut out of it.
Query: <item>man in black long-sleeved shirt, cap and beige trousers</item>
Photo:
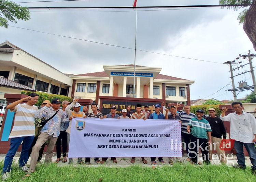
[[[222,141],[222,136],[223,136],[223,139],[226,139],[226,129],[224,127],[223,121],[219,117],[215,116],[215,109],[210,108],[208,109],[208,111],[210,116],[207,117],[206,120],[209,122],[212,128],[212,143],[211,143],[212,146],[209,151],[210,160],[212,160],[212,151],[216,150],[221,163],[226,164],[227,159],[226,159],[225,151],[219,148],[219,145],[221,144],[221,141]]]

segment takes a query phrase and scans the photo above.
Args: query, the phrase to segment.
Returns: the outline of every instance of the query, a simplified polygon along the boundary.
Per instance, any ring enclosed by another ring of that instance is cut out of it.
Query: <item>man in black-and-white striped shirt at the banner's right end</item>
[[[182,121],[181,137],[182,137],[182,141],[185,143],[184,150],[186,150],[186,153],[188,154],[188,148],[190,143],[190,133],[187,132],[187,124],[193,117],[196,117],[196,115],[190,112],[189,105],[185,105],[184,110],[185,112],[179,112],[178,114],[181,117],[181,121]],[[187,158],[187,161],[190,161],[189,157]]]

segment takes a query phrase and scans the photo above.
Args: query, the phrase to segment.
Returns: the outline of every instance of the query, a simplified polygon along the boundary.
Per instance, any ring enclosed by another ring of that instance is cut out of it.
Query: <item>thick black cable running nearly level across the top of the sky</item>
[[[140,8],[178,8],[178,7],[234,7],[234,6],[253,6],[255,4],[212,4],[212,5],[179,5],[179,6],[136,6]],[[134,9],[133,6],[119,7],[28,7],[28,9]]]

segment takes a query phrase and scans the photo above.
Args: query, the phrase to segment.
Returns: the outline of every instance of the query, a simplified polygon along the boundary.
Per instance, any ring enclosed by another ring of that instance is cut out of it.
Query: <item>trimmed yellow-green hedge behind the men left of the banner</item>
[[[21,93],[28,95],[34,92],[22,91]],[[69,102],[73,102],[73,99],[71,97],[67,97],[64,95],[55,95],[55,94],[48,94],[48,93],[42,93],[42,92],[36,92],[36,93],[39,95],[38,103],[36,104],[36,106],[41,106],[44,100],[49,100],[51,102],[55,98],[58,98],[61,102],[65,100]]]

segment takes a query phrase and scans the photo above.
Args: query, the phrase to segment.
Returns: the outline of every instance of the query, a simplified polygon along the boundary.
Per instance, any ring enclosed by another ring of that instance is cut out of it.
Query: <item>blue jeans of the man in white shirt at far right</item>
[[[235,141],[234,147],[237,151],[237,163],[243,166],[244,168],[246,167],[243,146],[245,146],[247,152],[249,153],[250,160],[252,163],[252,170],[256,170],[256,149],[254,147],[254,143],[243,143]]]

